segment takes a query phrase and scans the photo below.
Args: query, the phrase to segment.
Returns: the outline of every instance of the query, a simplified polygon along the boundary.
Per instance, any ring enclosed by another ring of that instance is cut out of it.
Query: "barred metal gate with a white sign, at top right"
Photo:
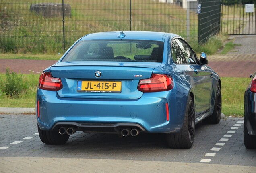
[[[221,32],[256,34],[256,0],[221,0]]]

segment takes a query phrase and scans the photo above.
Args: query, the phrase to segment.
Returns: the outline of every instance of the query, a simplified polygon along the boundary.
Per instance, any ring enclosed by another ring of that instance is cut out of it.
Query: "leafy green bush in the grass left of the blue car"
[[[2,91],[10,97],[18,98],[23,89],[26,89],[26,85],[23,82],[22,74],[17,75],[13,71],[10,73],[9,68],[6,68],[6,81]]]

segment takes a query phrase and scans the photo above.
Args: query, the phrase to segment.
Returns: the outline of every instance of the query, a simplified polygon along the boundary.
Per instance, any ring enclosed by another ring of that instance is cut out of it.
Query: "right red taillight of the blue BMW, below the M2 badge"
[[[152,74],[149,79],[142,79],[138,84],[138,90],[143,93],[167,91],[173,89],[173,79],[165,74]]]

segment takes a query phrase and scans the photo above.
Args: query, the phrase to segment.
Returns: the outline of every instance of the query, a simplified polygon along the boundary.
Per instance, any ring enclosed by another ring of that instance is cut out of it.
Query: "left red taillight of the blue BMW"
[[[52,77],[51,72],[45,72],[40,75],[39,89],[58,91],[62,89],[62,82],[60,78]]]

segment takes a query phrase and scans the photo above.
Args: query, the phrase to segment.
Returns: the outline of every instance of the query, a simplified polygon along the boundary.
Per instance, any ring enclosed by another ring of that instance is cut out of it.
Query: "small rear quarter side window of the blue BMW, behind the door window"
[[[187,61],[175,40],[171,44],[171,56],[176,64],[187,64]]]

